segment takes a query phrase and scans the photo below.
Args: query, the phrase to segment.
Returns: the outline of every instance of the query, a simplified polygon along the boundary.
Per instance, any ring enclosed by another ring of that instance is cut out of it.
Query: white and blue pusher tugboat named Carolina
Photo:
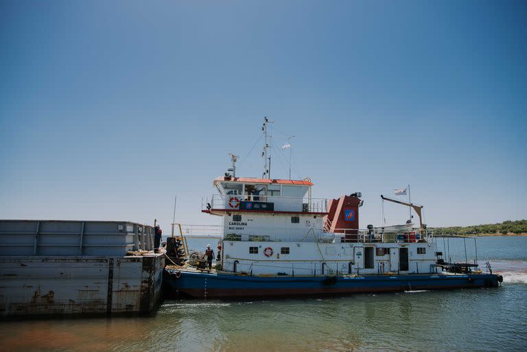
[[[220,256],[211,270],[188,248],[174,225],[167,255],[177,265],[165,268],[163,284],[170,296],[272,297],[397,292],[454,288],[494,288],[502,277],[478,269],[477,263],[446,263],[433,233],[421,219],[422,206],[382,196],[411,207],[414,224],[359,229],[361,193],[337,199],[312,198],[314,184],[269,176],[267,124],[266,167],[262,178],[237,177],[232,167],[215,178],[214,194],[202,212],[223,218]],[[215,246],[213,249],[216,251]]]

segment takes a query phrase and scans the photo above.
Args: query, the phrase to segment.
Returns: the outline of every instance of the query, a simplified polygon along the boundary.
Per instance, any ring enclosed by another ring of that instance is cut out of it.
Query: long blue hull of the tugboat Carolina
[[[192,297],[222,298],[495,288],[501,281],[501,276],[497,274],[253,277],[185,270],[165,270],[163,277],[163,285],[169,296],[183,294]]]

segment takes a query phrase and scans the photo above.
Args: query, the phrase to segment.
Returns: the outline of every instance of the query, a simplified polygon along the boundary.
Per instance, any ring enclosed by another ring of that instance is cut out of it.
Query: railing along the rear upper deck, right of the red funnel
[[[397,242],[429,242],[432,233],[427,231],[421,235],[419,230],[400,232],[379,232],[361,228],[336,228],[333,231],[334,242],[354,243],[397,243]]]

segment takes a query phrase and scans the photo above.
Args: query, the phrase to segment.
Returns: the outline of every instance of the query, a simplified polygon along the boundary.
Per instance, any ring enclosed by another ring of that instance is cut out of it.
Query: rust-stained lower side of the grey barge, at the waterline
[[[161,255],[0,257],[0,315],[152,312],[163,266]]]

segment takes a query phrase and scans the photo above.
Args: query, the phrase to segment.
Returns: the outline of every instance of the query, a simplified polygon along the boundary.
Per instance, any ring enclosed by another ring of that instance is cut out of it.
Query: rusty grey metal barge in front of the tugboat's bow
[[[0,316],[148,314],[165,266],[153,247],[134,222],[0,220]]]

